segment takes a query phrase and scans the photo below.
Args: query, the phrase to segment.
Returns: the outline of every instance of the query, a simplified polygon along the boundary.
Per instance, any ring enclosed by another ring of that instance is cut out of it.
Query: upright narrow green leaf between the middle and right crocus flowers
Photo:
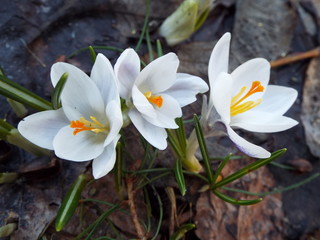
[[[199,118],[197,117],[197,115],[193,115],[193,121],[195,124],[195,130],[196,130],[196,134],[197,134],[197,139],[199,142],[199,148],[202,154],[202,158],[203,158],[203,163],[204,163],[204,169],[208,175],[208,180],[209,180],[209,184],[210,186],[213,186],[214,182],[213,182],[213,171],[211,168],[211,164],[210,164],[210,158],[208,155],[208,150],[207,150],[207,145],[206,142],[204,140],[204,136],[202,133],[202,129],[200,126],[200,122],[199,122]]]

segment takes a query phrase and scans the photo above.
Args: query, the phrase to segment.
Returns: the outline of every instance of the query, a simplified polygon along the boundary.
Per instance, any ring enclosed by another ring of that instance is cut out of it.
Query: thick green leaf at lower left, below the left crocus
[[[79,175],[77,180],[74,182],[74,184],[68,191],[67,195],[64,197],[56,218],[56,231],[61,231],[63,227],[68,223],[70,218],[73,216],[78,206],[81,197],[81,192],[86,186],[88,180],[89,179],[86,175]]]

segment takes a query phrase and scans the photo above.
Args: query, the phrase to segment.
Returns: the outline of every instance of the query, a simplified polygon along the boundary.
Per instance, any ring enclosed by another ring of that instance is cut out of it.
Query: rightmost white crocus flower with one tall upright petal
[[[246,141],[233,128],[271,133],[295,126],[298,122],[283,114],[294,103],[297,91],[268,86],[270,64],[263,58],[251,59],[228,74],[230,39],[230,33],[224,34],[211,53],[208,67],[210,100],[203,111],[202,122],[207,122],[209,127],[217,121],[222,122],[240,151],[251,157],[267,158],[270,156],[267,150]],[[218,114],[218,119],[213,117],[214,113]]]

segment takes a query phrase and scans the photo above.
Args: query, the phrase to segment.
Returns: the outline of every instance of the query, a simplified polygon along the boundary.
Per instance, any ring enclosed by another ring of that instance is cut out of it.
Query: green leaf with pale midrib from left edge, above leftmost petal
[[[0,75],[0,94],[38,111],[52,109],[50,102],[9,80],[3,75]]]

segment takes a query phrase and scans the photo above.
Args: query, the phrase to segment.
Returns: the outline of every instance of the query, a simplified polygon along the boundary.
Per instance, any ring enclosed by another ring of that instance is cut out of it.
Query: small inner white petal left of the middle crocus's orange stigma
[[[134,85],[132,88],[132,101],[137,110],[150,118],[156,117],[156,112],[152,104],[148,101],[146,96]]]

